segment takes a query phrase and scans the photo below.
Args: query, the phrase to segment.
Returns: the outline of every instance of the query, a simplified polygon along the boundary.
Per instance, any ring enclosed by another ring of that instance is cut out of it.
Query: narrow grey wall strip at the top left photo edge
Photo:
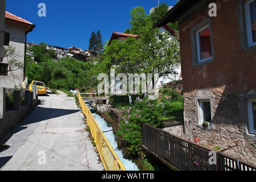
[[[5,0],[0,0],[0,62],[3,57],[3,39],[5,31]]]

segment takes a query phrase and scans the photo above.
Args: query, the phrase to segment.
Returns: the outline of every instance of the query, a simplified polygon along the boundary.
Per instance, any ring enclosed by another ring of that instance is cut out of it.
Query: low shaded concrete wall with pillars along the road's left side
[[[21,103],[21,91],[15,90],[13,100],[13,110],[6,111],[6,89],[0,88],[0,139],[5,136],[9,130],[22,121],[22,119],[36,106],[38,102],[38,89],[33,88],[34,92],[24,91],[25,104]]]

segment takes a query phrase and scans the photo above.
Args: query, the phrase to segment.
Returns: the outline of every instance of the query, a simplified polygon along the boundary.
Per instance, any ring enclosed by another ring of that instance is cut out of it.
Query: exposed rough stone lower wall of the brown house
[[[195,89],[184,93],[185,138],[190,139],[189,119],[191,119],[192,139],[200,138],[200,143],[219,146],[224,152],[238,159],[256,163],[255,135],[248,134],[246,111],[241,97],[254,92],[225,94],[225,86]],[[212,109],[212,127],[198,124],[197,103],[199,99],[209,99]]]

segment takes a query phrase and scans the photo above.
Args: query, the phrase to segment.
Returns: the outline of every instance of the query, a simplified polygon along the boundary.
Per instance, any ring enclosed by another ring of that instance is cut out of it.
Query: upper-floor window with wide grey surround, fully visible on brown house
[[[191,28],[191,46],[194,66],[213,61],[213,36],[210,18],[203,19]]]

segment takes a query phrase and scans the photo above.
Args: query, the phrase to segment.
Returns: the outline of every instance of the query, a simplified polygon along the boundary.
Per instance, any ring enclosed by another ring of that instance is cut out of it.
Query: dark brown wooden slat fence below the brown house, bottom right
[[[256,171],[256,166],[142,124],[143,146],[177,169],[185,171]],[[209,155],[209,152],[213,154]],[[216,161],[214,162],[214,154]],[[211,158],[213,157],[213,158]],[[213,162],[214,164],[210,164]]]

